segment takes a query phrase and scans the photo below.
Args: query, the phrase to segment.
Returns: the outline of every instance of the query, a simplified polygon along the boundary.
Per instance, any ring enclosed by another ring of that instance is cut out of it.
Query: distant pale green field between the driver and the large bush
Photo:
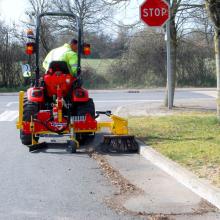
[[[82,67],[91,67],[99,75],[106,75],[114,59],[82,59]]]

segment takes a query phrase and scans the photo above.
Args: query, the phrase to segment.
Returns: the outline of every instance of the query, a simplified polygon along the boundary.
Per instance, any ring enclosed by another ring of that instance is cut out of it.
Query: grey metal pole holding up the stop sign
[[[170,5],[170,0],[167,0]],[[166,23],[166,41],[167,41],[167,95],[168,109],[172,109],[172,68],[171,68],[171,40],[170,40],[170,20]]]

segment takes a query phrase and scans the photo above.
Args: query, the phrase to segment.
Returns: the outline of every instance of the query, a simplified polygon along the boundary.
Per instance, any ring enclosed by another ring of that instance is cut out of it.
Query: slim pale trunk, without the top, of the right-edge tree
[[[217,118],[220,120],[220,31],[215,30],[215,59],[217,78]]]

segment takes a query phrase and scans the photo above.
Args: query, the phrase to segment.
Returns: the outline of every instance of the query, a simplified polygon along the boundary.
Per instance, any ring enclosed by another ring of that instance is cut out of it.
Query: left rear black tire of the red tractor
[[[29,102],[27,100],[24,101],[24,112],[23,112],[23,121],[31,121],[31,116],[34,117],[39,110],[38,103]],[[21,143],[24,145],[32,144],[32,136],[31,134],[25,134],[22,130],[20,130],[20,139]],[[39,137],[34,137],[35,141],[38,141]]]

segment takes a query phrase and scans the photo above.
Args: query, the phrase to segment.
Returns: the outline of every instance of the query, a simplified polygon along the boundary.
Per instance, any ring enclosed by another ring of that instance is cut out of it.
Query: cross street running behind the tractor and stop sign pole
[[[152,105],[158,103],[161,105],[164,102],[164,90],[139,90],[136,93],[134,90],[111,90],[111,91],[90,91],[90,96],[94,99],[96,110],[112,110],[118,112],[121,107],[129,107],[134,105]],[[204,105],[204,107],[215,108],[216,92],[213,89],[179,89],[175,94],[175,104],[184,103]],[[1,95],[0,111],[9,111],[5,113],[8,120],[14,120],[18,113],[17,111],[18,98],[16,95]],[[12,115],[12,118],[11,118]],[[4,120],[5,115],[0,115],[0,121]],[[3,119],[2,119],[3,117]],[[6,120],[7,121],[7,120]]]

